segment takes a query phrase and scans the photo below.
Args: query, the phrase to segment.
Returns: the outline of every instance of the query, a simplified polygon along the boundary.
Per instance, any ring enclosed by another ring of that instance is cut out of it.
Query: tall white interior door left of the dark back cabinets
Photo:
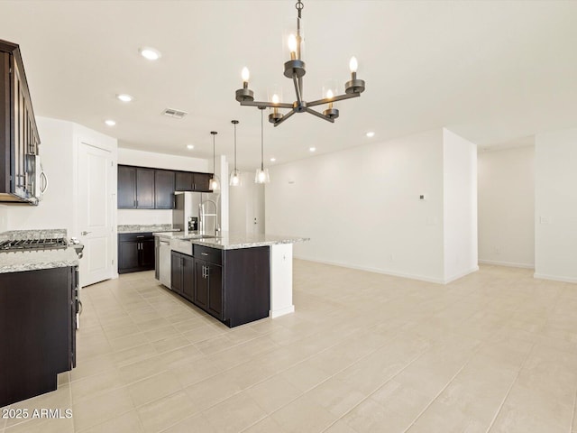
[[[78,230],[84,244],[80,285],[114,275],[113,159],[111,152],[80,143],[78,147]]]

